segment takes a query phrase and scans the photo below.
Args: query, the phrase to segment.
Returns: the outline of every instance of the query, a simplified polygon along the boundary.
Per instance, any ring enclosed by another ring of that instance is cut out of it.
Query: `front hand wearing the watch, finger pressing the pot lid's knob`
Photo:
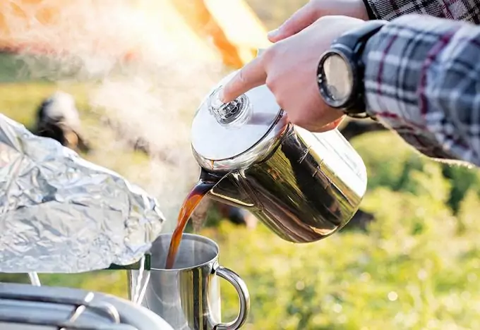
[[[363,23],[346,16],[326,16],[293,37],[273,44],[224,85],[222,102],[230,102],[266,83],[295,125],[313,132],[337,127],[343,113],[328,107],[320,97],[316,81],[318,60],[334,39]]]

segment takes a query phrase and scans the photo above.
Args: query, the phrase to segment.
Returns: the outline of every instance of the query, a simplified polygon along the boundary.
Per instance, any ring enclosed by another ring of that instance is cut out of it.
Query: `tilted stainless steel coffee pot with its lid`
[[[222,104],[228,75],[200,104],[191,145],[214,200],[248,209],[284,240],[308,243],[352,219],[366,190],[359,154],[338,130],[289,123],[265,85]]]

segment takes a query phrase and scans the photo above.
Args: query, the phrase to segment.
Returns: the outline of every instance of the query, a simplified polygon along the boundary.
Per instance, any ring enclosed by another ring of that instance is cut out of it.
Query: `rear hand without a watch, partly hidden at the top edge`
[[[296,35],[318,18],[330,15],[342,15],[368,20],[363,0],[311,0],[286,20],[277,30],[268,33],[270,42]]]

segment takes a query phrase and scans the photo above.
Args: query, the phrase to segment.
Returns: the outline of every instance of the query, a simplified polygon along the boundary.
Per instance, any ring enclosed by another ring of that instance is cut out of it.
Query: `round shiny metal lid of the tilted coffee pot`
[[[191,144],[203,159],[220,161],[244,154],[268,135],[282,112],[266,85],[223,104],[220,91],[234,75],[227,75],[212,89],[193,118]]]

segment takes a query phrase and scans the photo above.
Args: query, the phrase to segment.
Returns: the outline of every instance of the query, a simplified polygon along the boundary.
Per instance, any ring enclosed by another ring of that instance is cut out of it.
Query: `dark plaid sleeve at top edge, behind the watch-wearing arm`
[[[364,0],[370,19],[393,20],[417,13],[480,24],[480,0]]]

